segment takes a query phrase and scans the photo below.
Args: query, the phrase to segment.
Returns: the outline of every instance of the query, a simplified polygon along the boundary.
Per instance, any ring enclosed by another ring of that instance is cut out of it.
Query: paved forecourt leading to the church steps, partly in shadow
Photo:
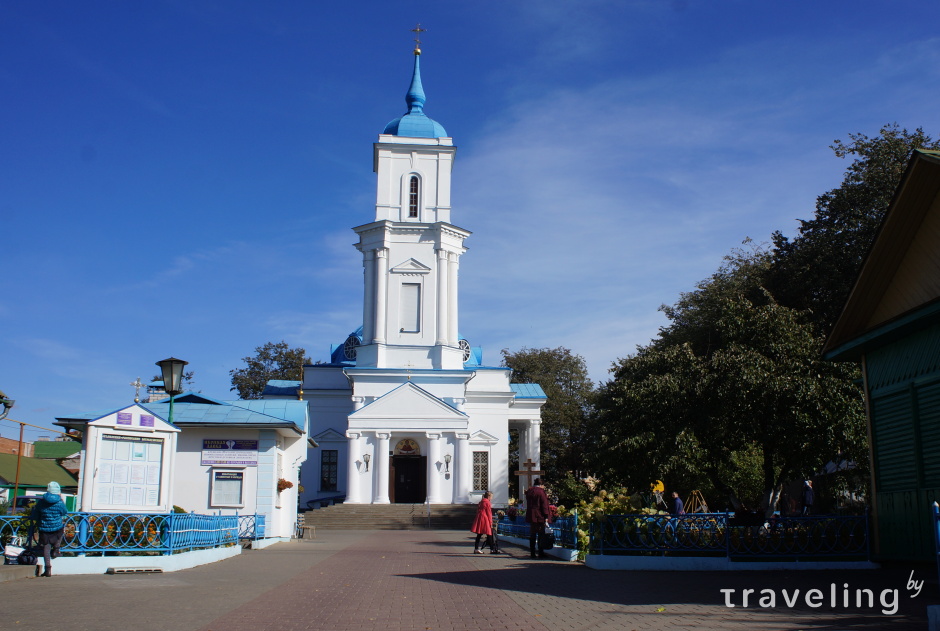
[[[473,555],[464,532],[321,531],[318,537],[174,573],[2,583],[0,629],[920,630],[927,628],[927,605],[940,604],[929,567],[913,569],[914,580],[926,583],[911,598],[911,568],[601,572],[532,560],[513,546],[508,555]],[[755,592],[743,607],[746,589]],[[810,589],[820,590],[818,607],[807,605]],[[867,596],[856,603],[860,589],[871,590],[873,606]],[[790,607],[784,599],[792,600],[795,590],[798,602]],[[760,607],[762,594],[766,599],[771,592],[776,606]],[[726,598],[734,608],[725,606]],[[895,602],[896,613],[882,613]]]

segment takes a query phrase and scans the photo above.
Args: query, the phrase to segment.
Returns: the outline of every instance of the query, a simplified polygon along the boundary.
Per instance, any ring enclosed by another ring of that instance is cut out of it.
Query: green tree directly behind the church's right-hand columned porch
[[[549,481],[585,469],[585,422],[594,384],[584,358],[569,349],[502,350],[503,366],[512,368],[513,383],[537,383],[548,401],[542,407],[541,466]]]

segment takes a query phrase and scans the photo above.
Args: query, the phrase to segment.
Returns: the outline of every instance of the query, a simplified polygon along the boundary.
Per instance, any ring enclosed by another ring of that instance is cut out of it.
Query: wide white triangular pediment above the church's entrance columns
[[[410,381],[349,415],[349,429],[466,429],[469,417]]]

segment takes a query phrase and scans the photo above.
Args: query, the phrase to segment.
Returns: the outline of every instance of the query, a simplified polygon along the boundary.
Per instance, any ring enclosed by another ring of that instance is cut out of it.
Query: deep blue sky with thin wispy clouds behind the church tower
[[[923,0],[2,2],[10,416],[117,408],[171,355],[219,398],[268,341],[326,359],[361,322],[350,228],[416,22],[491,364],[566,346],[604,380],[743,239],[811,216],[833,140],[940,133]]]

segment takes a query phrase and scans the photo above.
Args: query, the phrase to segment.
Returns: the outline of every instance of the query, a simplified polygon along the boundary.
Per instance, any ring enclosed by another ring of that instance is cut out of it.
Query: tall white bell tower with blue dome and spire
[[[374,145],[375,220],[353,229],[365,281],[357,367],[459,369],[468,357],[457,330],[457,279],[470,232],[450,223],[456,147],[424,113],[415,42],[408,111]]]

